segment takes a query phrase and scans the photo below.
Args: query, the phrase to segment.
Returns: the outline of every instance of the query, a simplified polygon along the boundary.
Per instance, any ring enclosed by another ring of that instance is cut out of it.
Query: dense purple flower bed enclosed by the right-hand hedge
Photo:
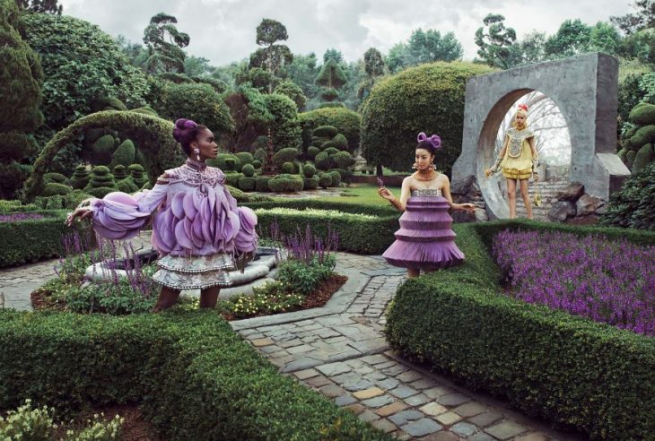
[[[493,256],[515,298],[655,335],[655,246],[505,230]]]

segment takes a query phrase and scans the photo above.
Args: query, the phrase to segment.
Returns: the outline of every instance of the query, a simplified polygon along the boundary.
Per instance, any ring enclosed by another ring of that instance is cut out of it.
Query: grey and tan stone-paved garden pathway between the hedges
[[[142,243],[147,237],[141,238]],[[30,292],[57,261],[0,270],[0,307],[31,309]],[[380,256],[337,255],[348,276],[325,307],[231,322],[280,371],[398,439],[578,440],[471,393],[389,350],[384,312],[402,269]]]

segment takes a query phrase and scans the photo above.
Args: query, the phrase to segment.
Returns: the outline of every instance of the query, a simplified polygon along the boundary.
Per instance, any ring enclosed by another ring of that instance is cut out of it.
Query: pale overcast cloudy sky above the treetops
[[[593,24],[633,11],[627,0],[59,0],[64,13],[143,43],[144,28],[156,13],[178,18],[187,32],[189,54],[213,65],[246,58],[257,48],[255,29],[262,18],[282,22],[294,54],[339,49],[347,61],[367,48],[386,54],[416,28],[455,32],[464,59],[476,56],[474,36],[487,13],[502,13],[521,39],[531,30],[554,33],[567,19]]]

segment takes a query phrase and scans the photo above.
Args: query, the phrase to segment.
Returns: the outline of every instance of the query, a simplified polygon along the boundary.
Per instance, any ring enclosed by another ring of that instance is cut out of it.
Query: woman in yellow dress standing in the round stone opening
[[[507,199],[510,202],[510,219],[516,219],[516,186],[520,183],[520,195],[523,197],[528,219],[532,219],[532,203],[528,195],[528,179],[537,182],[537,149],[535,134],[528,129],[528,106],[520,104],[511,128],[505,135],[505,143],[498,159],[491,169],[485,170],[487,177],[502,169],[502,176],[507,179]]]

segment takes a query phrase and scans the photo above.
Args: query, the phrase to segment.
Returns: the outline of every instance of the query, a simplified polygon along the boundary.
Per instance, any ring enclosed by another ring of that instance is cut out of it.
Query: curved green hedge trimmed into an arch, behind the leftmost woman
[[[117,130],[135,141],[137,148],[144,154],[145,169],[151,182],[161,176],[164,170],[178,167],[185,160],[182,149],[173,139],[173,123],[170,121],[129,110],[97,112],[77,119],[48,141],[34,162],[31,177],[25,182],[23,200],[32,201],[43,191],[43,175],[48,171],[48,165],[54,160],[57,151],[92,128]]]

